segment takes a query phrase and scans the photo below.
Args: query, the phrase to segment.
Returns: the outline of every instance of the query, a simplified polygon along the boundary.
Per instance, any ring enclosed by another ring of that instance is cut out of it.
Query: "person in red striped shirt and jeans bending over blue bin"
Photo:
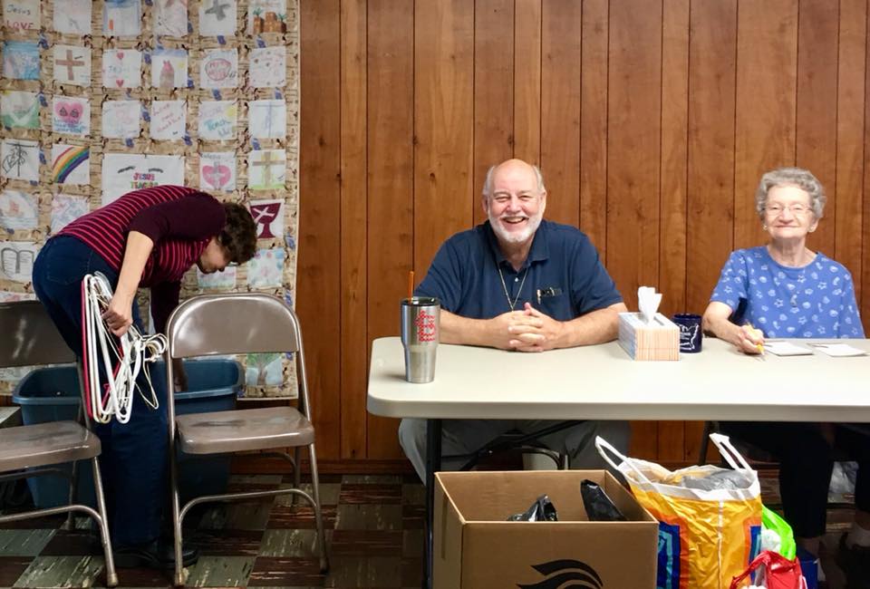
[[[179,304],[181,279],[196,265],[204,273],[247,262],[256,253],[256,225],[247,208],[221,203],[193,188],[142,188],[74,220],[52,237],[34,263],[34,291],[63,339],[82,356],[82,278],[101,272],[113,295],[102,315],[115,335],[141,329],[136,291],[150,288],[156,331]],[[137,384],[148,386],[140,375]],[[166,486],[165,389],[154,381],[159,410],[133,395],[128,423],[112,420],[94,431],[102,440],[100,467],[115,563],[171,566],[172,542],[160,543]],[[182,386],[183,387],[183,383]],[[196,558],[184,553],[185,565]]]

